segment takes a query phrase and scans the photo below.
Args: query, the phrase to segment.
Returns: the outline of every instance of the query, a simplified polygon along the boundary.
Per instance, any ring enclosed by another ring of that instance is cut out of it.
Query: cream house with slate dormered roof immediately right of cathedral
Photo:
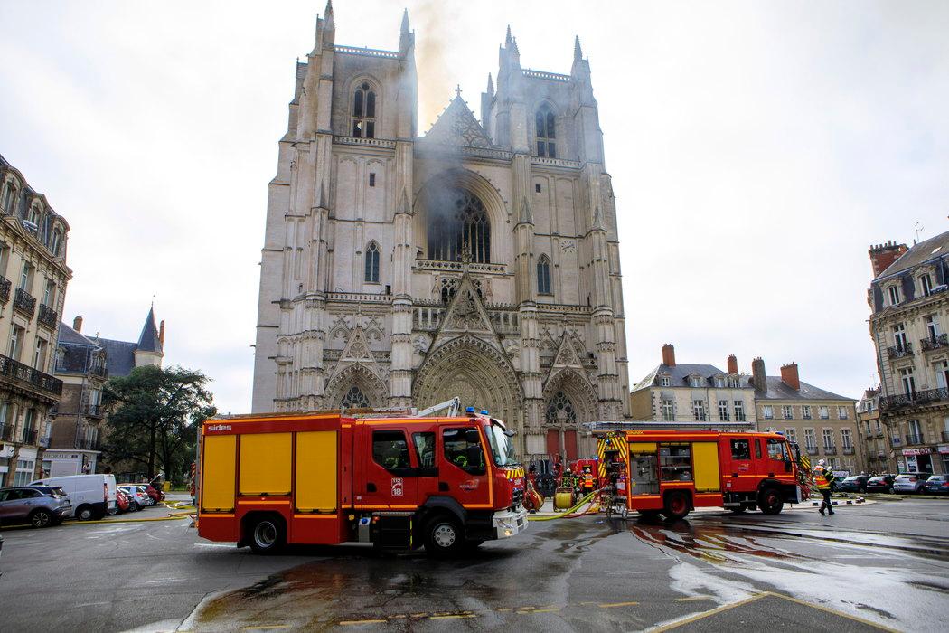
[[[662,345],[662,363],[630,394],[633,420],[642,427],[756,431],[750,377],[738,373],[735,356],[727,366],[677,363],[676,348]]]

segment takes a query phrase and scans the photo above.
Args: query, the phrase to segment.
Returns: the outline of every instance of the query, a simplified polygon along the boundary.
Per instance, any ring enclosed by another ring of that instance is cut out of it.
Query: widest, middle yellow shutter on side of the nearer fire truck
[[[249,433],[240,437],[241,494],[289,494],[292,435]]]

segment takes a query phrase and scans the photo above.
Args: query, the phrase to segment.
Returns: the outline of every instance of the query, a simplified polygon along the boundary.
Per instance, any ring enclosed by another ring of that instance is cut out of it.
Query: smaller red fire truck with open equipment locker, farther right
[[[781,512],[807,498],[796,447],[774,433],[631,430],[600,438],[628,510],[682,518],[694,508]],[[608,478],[609,475],[606,475]]]

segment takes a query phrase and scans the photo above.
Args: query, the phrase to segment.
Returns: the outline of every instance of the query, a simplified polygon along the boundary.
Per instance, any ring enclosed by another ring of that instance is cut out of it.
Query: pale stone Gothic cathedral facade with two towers
[[[590,69],[522,68],[510,29],[478,121],[460,91],[417,130],[415,33],[296,66],[270,182],[254,412],[459,396],[522,455],[588,455],[628,416],[616,206]]]

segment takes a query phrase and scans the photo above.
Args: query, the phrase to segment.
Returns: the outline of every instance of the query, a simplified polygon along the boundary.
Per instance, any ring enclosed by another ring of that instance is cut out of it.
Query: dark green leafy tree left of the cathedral
[[[136,367],[112,378],[102,390],[109,436],[102,452],[113,463],[131,461],[148,476],[179,481],[195,453],[197,428],[214,415],[210,379],[183,367]]]

